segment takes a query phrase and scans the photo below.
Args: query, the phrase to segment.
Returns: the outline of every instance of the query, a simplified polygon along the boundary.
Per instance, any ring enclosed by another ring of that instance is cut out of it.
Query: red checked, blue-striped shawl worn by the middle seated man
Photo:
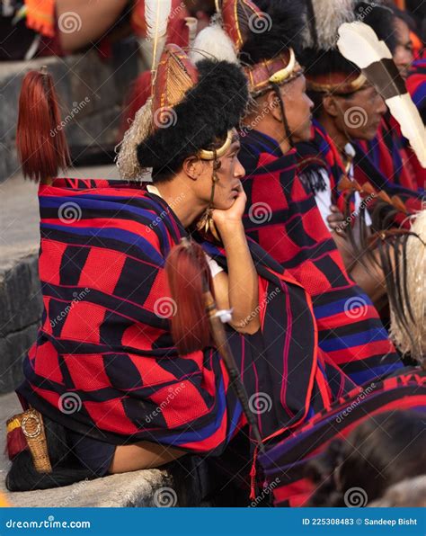
[[[282,155],[252,130],[240,160],[246,232],[311,294],[320,347],[359,384],[400,367],[376,308],[347,274],[314,195],[297,177],[294,151]]]

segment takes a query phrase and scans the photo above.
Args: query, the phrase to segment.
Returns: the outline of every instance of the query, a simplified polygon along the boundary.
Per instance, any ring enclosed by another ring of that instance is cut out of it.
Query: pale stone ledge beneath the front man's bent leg
[[[0,452],[5,446],[5,422],[22,411],[14,393],[0,397]],[[83,480],[72,486],[10,493],[4,486],[9,460],[0,456],[0,495],[17,507],[173,507],[199,506],[209,494],[205,462],[186,457],[168,469],[147,469]]]

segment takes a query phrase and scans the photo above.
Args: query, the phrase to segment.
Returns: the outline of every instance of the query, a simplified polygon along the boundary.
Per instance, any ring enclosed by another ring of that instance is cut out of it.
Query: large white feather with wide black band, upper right
[[[363,22],[344,23],[337,46],[344,58],[359,67],[371,85],[382,95],[410,142],[422,167],[426,167],[426,130],[383,40]]]

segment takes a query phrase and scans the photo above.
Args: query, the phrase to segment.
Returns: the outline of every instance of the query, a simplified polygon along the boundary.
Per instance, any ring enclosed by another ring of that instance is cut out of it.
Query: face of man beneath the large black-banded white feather
[[[349,139],[371,140],[386,113],[386,103],[369,85],[349,97],[334,95],[336,127]]]

